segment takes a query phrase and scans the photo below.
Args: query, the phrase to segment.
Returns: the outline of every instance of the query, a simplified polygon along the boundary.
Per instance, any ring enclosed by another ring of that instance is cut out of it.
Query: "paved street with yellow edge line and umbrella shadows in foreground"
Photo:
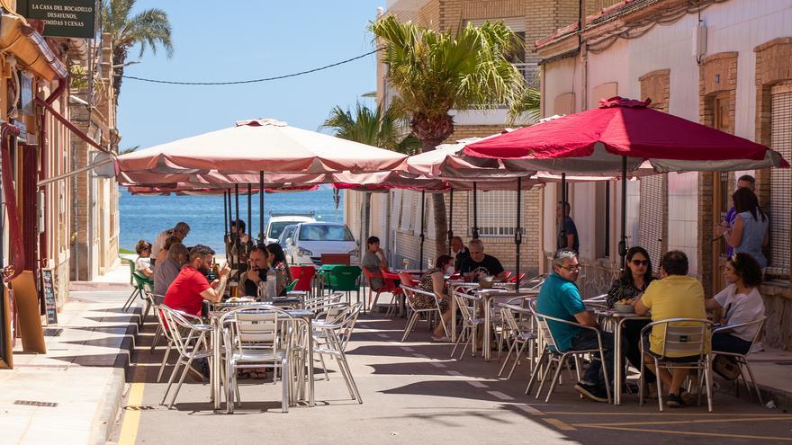
[[[523,394],[527,368],[511,380],[480,357],[448,358],[447,344],[424,343],[426,325],[401,343],[403,319],[362,318],[349,344],[350,366],[364,399],[350,400],[338,372],[316,384],[317,406],[280,412],[280,386],[247,382],[244,404],[232,415],[214,414],[209,387],[189,383],[176,405],[158,405],[164,384],[153,383],[162,352],[148,353],[151,326],[131,371],[130,401],[114,441],[120,443],[787,443],[792,416],[716,395],[706,406],[659,413],[656,402],[638,406],[581,400],[567,384],[550,404]],[[420,342],[419,342],[420,341]],[[337,369],[335,363],[330,369]]]

